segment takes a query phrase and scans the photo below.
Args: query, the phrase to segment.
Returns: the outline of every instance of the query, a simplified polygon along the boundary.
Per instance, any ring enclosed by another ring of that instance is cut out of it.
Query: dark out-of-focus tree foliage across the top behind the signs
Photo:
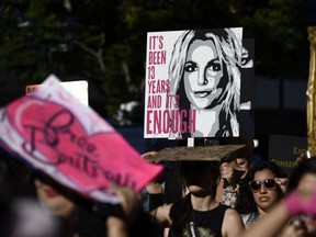
[[[147,32],[242,26],[256,40],[256,74],[306,78],[302,7],[302,0],[3,0],[0,67],[22,84],[50,72],[87,79],[111,114],[121,102],[142,100]]]

